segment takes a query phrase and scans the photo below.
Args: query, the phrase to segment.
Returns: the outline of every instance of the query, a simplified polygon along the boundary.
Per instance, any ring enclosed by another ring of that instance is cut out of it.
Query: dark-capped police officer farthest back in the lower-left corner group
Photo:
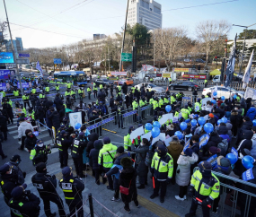
[[[18,154],[13,155],[12,159],[5,164],[9,165],[12,168],[12,173],[18,179],[18,185],[22,185],[26,178],[26,172],[22,172],[22,169],[19,168],[19,164],[22,161],[21,156]]]

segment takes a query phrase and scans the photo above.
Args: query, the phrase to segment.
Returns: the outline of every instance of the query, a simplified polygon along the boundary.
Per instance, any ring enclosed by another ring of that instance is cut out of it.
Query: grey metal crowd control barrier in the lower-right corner
[[[199,168],[196,167],[194,172],[197,169]],[[215,171],[212,171],[212,173],[220,180],[217,214],[212,214],[212,216],[235,217],[240,215],[242,217],[254,217],[256,195],[253,192],[256,192],[256,185]],[[212,204],[212,209],[214,206],[215,202]]]

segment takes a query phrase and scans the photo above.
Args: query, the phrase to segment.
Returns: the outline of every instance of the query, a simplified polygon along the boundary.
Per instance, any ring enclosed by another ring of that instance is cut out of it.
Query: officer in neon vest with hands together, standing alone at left
[[[36,166],[40,162],[47,162],[48,154],[51,153],[50,146],[46,146],[42,140],[38,140],[36,146],[31,150],[30,159]]]

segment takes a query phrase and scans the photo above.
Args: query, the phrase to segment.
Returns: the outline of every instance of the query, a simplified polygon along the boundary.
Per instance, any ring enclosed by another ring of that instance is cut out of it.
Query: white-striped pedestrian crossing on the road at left
[[[13,125],[8,125],[8,137],[12,136],[13,139],[17,140],[17,143],[19,145],[22,144],[22,141],[18,141],[18,126],[16,125],[18,118],[13,118]],[[51,145],[53,146],[54,143],[52,142],[51,137],[49,136],[49,131],[45,126],[40,127],[40,135],[37,136],[38,139],[41,139],[45,145]],[[24,151],[29,152],[26,148],[24,148]],[[58,152],[57,148],[51,149],[51,153],[53,154],[55,152]]]

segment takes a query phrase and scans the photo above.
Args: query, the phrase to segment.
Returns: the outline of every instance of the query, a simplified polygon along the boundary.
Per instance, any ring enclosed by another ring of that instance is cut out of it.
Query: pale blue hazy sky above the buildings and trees
[[[184,26],[192,38],[199,22],[207,20],[226,20],[243,26],[256,23],[255,0],[156,2],[162,4],[162,27]],[[49,48],[92,39],[93,33],[120,32],[127,0],[5,0],[5,4],[13,39],[21,37],[23,48]],[[210,5],[199,6],[202,4]],[[0,1],[0,21],[6,21],[3,0]],[[249,29],[256,29],[256,25]],[[243,28],[233,27],[229,39],[234,39],[235,33],[241,31]]]

